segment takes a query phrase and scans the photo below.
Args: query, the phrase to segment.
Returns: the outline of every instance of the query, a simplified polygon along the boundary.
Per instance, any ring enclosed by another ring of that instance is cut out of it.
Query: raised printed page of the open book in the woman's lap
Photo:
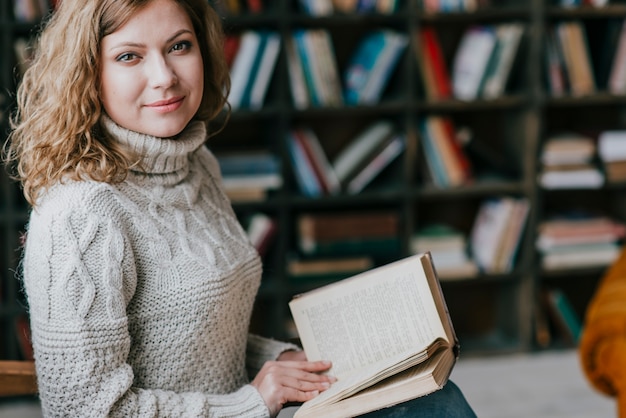
[[[447,341],[422,256],[292,300],[290,308],[308,359],[331,360],[330,373],[341,379],[367,365],[424,351],[437,338]]]

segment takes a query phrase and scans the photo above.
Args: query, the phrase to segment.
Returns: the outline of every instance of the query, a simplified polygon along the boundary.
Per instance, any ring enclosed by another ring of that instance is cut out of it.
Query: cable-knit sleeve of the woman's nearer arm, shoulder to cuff
[[[44,415],[268,416],[250,385],[224,395],[134,386],[126,308],[137,274],[113,219],[80,208],[31,216],[24,284]]]

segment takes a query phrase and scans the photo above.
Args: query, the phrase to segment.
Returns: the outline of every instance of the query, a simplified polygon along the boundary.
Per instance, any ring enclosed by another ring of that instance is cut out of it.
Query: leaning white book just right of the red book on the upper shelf
[[[452,91],[457,99],[478,97],[495,45],[492,27],[473,26],[463,34],[452,63]]]

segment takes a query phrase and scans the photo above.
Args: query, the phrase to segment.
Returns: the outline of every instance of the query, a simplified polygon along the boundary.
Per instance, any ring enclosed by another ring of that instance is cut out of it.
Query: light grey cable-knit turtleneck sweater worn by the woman
[[[38,200],[24,284],[46,417],[265,417],[249,374],[292,345],[248,334],[261,263],[192,122],[175,139],[103,126],[142,156],[121,184]]]

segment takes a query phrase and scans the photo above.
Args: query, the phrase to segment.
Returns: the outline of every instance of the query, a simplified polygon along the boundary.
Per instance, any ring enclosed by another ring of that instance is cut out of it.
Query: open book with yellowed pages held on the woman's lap
[[[458,340],[430,253],[296,296],[289,307],[308,360],[337,377],[296,418],[340,418],[441,389]]]

